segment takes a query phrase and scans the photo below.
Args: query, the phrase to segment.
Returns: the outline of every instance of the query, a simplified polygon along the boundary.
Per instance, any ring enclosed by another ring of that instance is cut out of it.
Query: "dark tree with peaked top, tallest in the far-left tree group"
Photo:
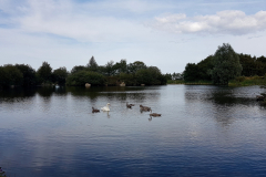
[[[37,75],[40,77],[42,83],[51,82],[52,67],[48,62],[43,62],[42,65],[38,69]]]

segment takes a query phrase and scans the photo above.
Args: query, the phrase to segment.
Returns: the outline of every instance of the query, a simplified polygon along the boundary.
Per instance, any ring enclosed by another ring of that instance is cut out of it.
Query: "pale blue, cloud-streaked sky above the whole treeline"
[[[229,43],[266,55],[265,0],[0,0],[0,65],[142,61],[183,72]]]

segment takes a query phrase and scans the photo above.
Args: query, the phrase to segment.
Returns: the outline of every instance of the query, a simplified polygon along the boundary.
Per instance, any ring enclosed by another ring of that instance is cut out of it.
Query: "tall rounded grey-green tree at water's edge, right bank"
[[[229,80],[241,75],[242,65],[238,54],[227,43],[218,46],[213,56],[212,80],[215,84],[228,85]]]

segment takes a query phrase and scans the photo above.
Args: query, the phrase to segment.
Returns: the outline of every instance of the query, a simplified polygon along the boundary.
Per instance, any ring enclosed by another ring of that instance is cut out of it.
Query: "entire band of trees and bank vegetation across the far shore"
[[[266,85],[266,58],[236,53],[229,44],[218,46],[213,55],[198,63],[187,63],[183,73],[162,74],[158,67],[147,66],[141,61],[127,63],[121,60],[98,65],[94,56],[86,65],[75,65],[53,70],[48,62],[35,71],[28,64],[6,64],[0,66],[0,88],[35,85],[91,85],[115,86],[124,82],[131,85],[163,84],[218,84],[218,85]]]

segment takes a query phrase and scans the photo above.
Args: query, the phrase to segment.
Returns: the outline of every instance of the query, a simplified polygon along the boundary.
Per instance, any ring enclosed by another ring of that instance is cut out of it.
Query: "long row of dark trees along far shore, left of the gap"
[[[34,85],[119,85],[124,82],[126,85],[163,85],[167,76],[162,74],[156,66],[147,66],[141,61],[133,63],[121,60],[105,65],[98,65],[94,56],[86,65],[75,65],[69,72],[65,67],[53,70],[48,62],[35,71],[28,64],[6,64],[0,66],[0,87],[10,85],[34,86]]]

